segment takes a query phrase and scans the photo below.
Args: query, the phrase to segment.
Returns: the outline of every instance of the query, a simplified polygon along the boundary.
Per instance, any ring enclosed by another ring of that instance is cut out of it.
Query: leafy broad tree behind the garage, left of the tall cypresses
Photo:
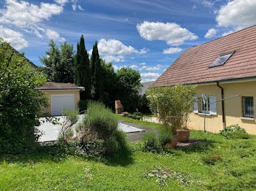
[[[39,70],[48,76],[48,81],[52,82],[74,82],[74,51],[73,45],[64,42],[58,45],[51,39],[48,43],[49,49],[46,56],[40,58],[44,66]]]

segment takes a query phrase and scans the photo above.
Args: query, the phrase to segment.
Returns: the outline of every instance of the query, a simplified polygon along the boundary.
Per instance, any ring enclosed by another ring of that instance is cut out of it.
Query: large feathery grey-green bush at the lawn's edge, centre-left
[[[89,103],[80,134],[83,147],[89,142],[101,142],[100,152],[103,155],[121,154],[128,149],[126,134],[118,130],[116,115],[99,102]]]

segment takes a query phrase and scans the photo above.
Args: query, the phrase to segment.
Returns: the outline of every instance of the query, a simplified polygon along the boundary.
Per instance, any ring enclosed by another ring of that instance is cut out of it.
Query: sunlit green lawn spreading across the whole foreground
[[[132,144],[132,160],[110,162],[69,155],[2,156],[0,190],[256,190],[256,136],[227,140],[192,131],[191,137],[211,144],[162,155]],[[213,164],[213,158],[219,160]],[[156,177],[145,176],[154,167],[184,175],[161,187]]]

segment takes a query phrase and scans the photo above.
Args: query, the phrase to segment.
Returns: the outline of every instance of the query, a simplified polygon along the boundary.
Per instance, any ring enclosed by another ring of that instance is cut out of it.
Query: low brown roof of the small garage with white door
[[[84,90],[84,87],[78,87],[71,83],[45,82],[39,90]]]

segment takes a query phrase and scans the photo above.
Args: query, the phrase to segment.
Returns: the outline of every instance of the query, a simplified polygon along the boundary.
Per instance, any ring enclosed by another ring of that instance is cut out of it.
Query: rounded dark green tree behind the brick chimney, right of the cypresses
[[[135,112],[140,101],[140,73],[131,68],[121,68],[116,73],[118,99],[125,111]]]

